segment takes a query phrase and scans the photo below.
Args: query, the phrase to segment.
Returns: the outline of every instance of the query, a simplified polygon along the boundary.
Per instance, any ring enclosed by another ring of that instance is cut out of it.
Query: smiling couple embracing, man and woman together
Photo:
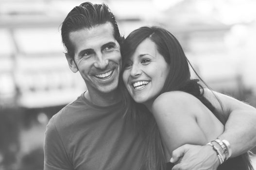
[[[256,109],[192,80],[170,32],[124,39],[107,5],[85,2],[61,35],[87,91],[49,121],[44,170],[253,170]]]

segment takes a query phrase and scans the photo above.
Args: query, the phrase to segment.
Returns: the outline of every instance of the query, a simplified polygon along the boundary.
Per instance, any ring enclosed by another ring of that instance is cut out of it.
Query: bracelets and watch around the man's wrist
[[[220,140],[217,138],[206,145],[210,145],[216,152],[220,164],[224,163],[231,156],[231,148],[227,140]]]

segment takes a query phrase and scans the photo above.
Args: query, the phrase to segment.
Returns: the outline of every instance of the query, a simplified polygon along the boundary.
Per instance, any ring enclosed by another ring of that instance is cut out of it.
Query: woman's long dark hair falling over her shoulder
[[[193,70],[194,68],[189,63],[180,43],[167,30],[153,26],[141,27],[133,31],[127,36],[122,45],[122,62],[126,63],[127,59],[129,59],[129,57],[136,51],[137,46],[146,38],[151,39],[155,43],[158,52],[170,66],[170,72],[160,94],[174,90],[187,92],[199,99],[215,114],[215,108],[204,97],[204,88],[199,84],[199,80],[190,79],[189,65]],[[122,66],[124,66],[124,64],[122,64]],[[206,85],[197,73],[196,75],[203,84]],[[141,170],[165,170],[166,158],[160,132],[153,115],[143,104],[135,103],[133,101],[123,85],[122,78],[119,80],[120,88],[123,88],[121,89],[123,92],[123,103],[125,104],[125,108],[127,108],[126,116],[134,120],[135,125],[137,126],[136,128],[141,131],[142,135],[146,135],[145,160],[142,163]],[[225,124],[227,117],[224,114],[215,114],[215,116],[222,122],[222,124]],[[247,157],[246,160],[249,161],[249,158]]]

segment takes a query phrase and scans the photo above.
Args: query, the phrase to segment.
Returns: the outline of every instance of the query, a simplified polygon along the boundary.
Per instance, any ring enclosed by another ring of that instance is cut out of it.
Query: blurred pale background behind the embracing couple
[[[86,89],[68,68],[59,31],[82,2],[0,0],[0,170],[43,170],[46,124]],[[91,2],[109,5],[124,36],[165,27],[209,86],[256,106],[256,0]]]

